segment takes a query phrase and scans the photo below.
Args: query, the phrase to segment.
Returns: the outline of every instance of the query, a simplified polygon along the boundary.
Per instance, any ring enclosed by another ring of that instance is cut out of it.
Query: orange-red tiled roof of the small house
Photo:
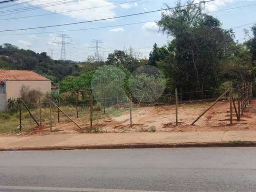
[[[33,71],[2,70],[0,69],[1,81],[50,81]]]

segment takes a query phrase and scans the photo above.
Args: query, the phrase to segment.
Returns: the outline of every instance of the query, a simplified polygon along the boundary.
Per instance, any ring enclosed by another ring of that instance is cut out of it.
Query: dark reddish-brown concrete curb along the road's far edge
[[[256,142],[193,142],[193,143],[138,143],[138,144],[106,144],[77,146],[41,146],[0,148],[0,151],[29,150],[76,150],[76,149],[135,149],[135,148],[190,148],[190,147],[256,147]]]

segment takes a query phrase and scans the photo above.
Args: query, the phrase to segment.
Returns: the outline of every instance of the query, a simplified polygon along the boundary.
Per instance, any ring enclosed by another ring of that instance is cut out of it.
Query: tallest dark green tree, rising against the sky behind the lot
[[[222,29],[216,18],[202,14],[203,4],[193,2],[189,0],[185,8],[178,2],[176,8],[162,12],[158,26],[174,37],[170,48],[175,86],[203,91],[218,88],[221,65],[234,41],[232,30]]]

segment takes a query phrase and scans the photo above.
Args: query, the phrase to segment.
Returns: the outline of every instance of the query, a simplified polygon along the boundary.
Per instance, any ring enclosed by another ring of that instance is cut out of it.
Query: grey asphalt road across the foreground
[[[129,190],[256,191],[256,148],[0,152],[1,192]]]

